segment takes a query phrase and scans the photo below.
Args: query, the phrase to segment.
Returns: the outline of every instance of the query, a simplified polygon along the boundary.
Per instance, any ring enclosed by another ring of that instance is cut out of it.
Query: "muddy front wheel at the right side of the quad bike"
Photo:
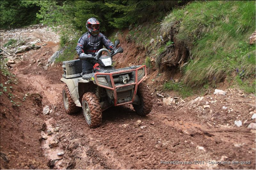
[[[148,86],[144,83],[140,83],[137,89],[137,95],[140,98],[140,104],[132,104],[134,110],[138,115],[148,115],[153,107],[152,96],[148,89]]]

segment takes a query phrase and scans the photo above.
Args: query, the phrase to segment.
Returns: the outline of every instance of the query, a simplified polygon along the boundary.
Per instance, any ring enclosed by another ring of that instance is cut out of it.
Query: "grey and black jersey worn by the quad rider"
[[[95,56],[96,53],[103,48],[103,45],[110,50],[115,47],[104,34],[99,33],[97,36],[92,36],[87,32],[79,38],[76,46],[76,52],[78,55],[85,53]]]

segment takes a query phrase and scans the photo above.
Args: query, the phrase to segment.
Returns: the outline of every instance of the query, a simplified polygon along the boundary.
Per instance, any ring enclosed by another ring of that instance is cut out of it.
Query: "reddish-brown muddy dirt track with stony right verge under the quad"
[[[40,166],[36,163],[28,166],[25,162],[18,165],[14,158],[9,158],[9,168],[255,169],[255,130],[247,128],[253,122],[249,113],[255,107],[248,105],[255,103],[253,95],[240,96],[238,92],[225,96],[212,94],[204,96],[201,101],[185,100],[181,104],[166,106],[162,98],[153,94],[153,109],[149,115],[137,115],[132,105],[111,107],[103,112],[101,126],[90,129],[82,110],[75,115],[66,114],[61,94],[64,86],[60,82],[61,65],[45,71],[43,66],[33,63],[38,59],[46,62],[47,57],[55,52],[57,44],[49,44],[30,51],[22,61],[12,65],[12,72],[23,82],[25,92],[42,96],[40,111],[47,105],[53,108],[50,115],[41,113],[37,118],[24,120],[31,123],[38,120],[40,128],[45,127],[41,131],[36,129],[35,133],[48,138],[36,141],[38,146],[31,146],[39,147],[40,153],[28,156],[40,162]],[[43,56],[47,51],[49,54]],[[157,85],[149,87],[153,92]],[[210,102],[210,108],[203,107],[205,102]],[[223,110],[223,106],[233,111]],[[247,121],[238,128],[234,125],[235,120]],[[54,131],[56,127],[59,127],[58,132]],[[47,130],[53,134],[47,135]],[[49,148],[52,141],[57,146]],[[23,148],[17,146],[18,150],[19,147]],[[65,154],[57,156],[58,152]],[[44,159],[39,160],[39,155]],[[19,156],[16,156],[19,162]],[[51,159],[60,160],[51,164],[48,162]],[[164,164],[161,161],[197,161],[198,164]],[[217,161],[227,162],[217,164]],[[232,164],[232,161],[239,163]],[[245,161],[250,161],[250,164]]]

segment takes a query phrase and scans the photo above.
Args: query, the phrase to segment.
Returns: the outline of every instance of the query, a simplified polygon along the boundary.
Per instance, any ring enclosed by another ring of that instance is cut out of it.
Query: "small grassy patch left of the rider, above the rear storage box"
[[[63,61],[68,61],[68,60],[74,60],[76,57],[76,45],[77,41],[79,38],[75,38],[74,40],[71,40],[69,42],[66,42],[67,48],[63,50],[63,53],[60,54],[58,58],[56,58],[55,62],[60,63]]]

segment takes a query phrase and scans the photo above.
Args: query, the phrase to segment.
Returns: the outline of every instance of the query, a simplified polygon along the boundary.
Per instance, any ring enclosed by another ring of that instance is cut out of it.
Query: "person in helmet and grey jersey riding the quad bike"
[[[88,54],[96,56],[97,52],[103,45],[110,50],[116,46],[108,40],[108,38],[100,33],[100,22],[96,18],[89,18],[86,21],[86,28],[88,32],[84,33],[78,40],[76,52],[79,57],[84,57]],[[93,64],[91,61],[82,60],[83,74],[92,73]]]

